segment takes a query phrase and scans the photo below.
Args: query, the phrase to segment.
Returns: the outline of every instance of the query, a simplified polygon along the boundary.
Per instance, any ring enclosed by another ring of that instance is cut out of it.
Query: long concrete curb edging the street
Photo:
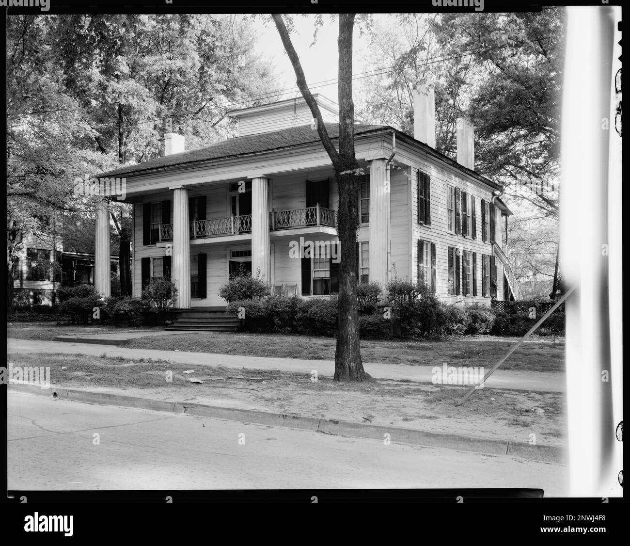
[[[226,421],[241,421],[252,424],[282,426],[335,436],[353,436],[355,438],[377,439],[396,443],[447,448],[460,451],[474,451],[489,455],[510,455],[547,463],[566,464],[565,449],[558,445],[531,445],[498,438],[467,436],[465,434],[435,433],[418,429],[406,429],[395,426],[371,425],[318,417],[301,417],[292,414],[272,414],[256,410],[209,406],[189,402],[168,402],[110,393],[51,387],[42,389],[37,385],[10,385],[18,391],[40,396],[50,396],[60,400],[87,402],[88,404],[117,405],[135,409],[166,411],[176,414],[212,417]],[[389,436],[386,436],[389,434]]]

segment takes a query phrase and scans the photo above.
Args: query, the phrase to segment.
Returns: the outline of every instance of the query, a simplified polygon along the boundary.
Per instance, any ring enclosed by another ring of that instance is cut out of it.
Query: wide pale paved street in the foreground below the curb
[[[541,487],[564,496],[567,485],[567,467],[505,455],[8,393],[17,491]]]

